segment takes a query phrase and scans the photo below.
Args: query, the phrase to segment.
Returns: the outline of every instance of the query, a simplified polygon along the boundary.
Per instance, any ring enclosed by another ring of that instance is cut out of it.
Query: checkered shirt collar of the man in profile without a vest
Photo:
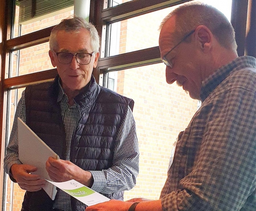
[[[211,76],[206,78],[202,82],[200,98],[204,101],[209,94],[225,79],[229,76],[231,71],[236,71],[246,67],[256,68],[256,58],[251,56],[240,56],[217,69]]]

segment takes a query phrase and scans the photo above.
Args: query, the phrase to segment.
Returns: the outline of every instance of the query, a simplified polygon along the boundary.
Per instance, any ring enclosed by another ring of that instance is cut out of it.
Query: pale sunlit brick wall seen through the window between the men
[[[122,21],[119,53],[158,46],[159,25],[170,11],[167,8]],[[118,71],[117,91],[135,101],[133,114],[140,149],[137,184],[125,191],[125,200],[158,199],[172,144],[196,112],[197,100],[176,83],[166,83],[163,63]]]

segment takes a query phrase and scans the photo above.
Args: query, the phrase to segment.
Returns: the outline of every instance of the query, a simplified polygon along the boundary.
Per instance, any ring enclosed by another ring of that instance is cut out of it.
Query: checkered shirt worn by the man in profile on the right
[[[165,211],[256,211],[256,59],[202,82],[202,106],[177,142],[161,192]]]

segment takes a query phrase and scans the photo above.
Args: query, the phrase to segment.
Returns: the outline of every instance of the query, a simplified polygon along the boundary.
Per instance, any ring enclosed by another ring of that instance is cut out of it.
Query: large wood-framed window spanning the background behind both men
[[[90,21],[95,24],[102,38],[100,60],[94,76],[100,84],[135,101],[133,113],[140,147],[140,174],[136,187],[125,192],[125,200],[135,197],[159,198],[166,179],[172,144],[179,131],[187,126],[199,105],[176,84],[169,85],[165,82],[165,66],[161,63],[158,47],[157,29],[161,20],[174,7],[188,1],[91,1]],[[203,1],[221,11],[224,9],[223,13],[227,12],[226,16],[236,29],[238,54],[243,55],[247,2]],[[55,24],[74,14],[74,7],[67,7],[58,14],[31,23],[18,24],[19,5],[15,5],[14,1],[2,2],[4,4],[0,4],[0,49],[3,49],[4,53],[0,57],[0,131],[3,157],[14,111],[24,87],[53,80],[57,74],[56,69],[52,69],[47,55],[48,38]],[[0,175],[4,190],[2,210],[20,211],[25,191],[16,183],[10,182],[5,174]]]

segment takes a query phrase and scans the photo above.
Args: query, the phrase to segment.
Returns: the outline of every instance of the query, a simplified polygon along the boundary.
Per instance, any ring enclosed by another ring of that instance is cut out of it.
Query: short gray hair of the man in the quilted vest
[[[93,51],[95,51],[95,53],[98,53],[100,48],[100,37],[97,32],[97,29],[92,23],[88,23],[86,22],[86,20],[80,17],[69,17],[69,18],[63,19],[58,25],[56,25],[52,29],[50,40],[49,40],[50,50],[56,51],[58,49],[58,43],[56,40],[58,31],[79,32],[81,29],[87,29],[90,32],[91,48],[93,49]]]

